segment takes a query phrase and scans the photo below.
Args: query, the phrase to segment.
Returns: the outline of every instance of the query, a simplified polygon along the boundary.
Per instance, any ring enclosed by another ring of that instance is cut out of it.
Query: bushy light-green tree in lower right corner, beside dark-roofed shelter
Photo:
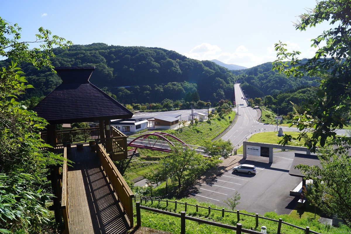
[[[346,137],[328,141],[318,151],[321,167],[296,166],[305,179],[313,180],[313,185],[307,187],[307,199],[327,215],[337,214],[348,227],[351,227],[350,143]]]

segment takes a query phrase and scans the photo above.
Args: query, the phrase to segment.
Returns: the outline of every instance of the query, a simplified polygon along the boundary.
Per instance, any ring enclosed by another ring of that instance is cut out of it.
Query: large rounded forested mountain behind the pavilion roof
[[[161,102],[164,99],[188,101],[232,99],[235,76],[211,61],[189,59],[162,48],[108,46],[102,43],[73,45],[68,50],[54,49],[56,66],[95,66],[90,82],[121,103]],[[0,61],[7,66],[9,61]],[[35,89],[22,99],[45,96],[61,80],[48,70],[37,71],[21,63],[29,83]],[[192,100],[195,98],[195,100]]]

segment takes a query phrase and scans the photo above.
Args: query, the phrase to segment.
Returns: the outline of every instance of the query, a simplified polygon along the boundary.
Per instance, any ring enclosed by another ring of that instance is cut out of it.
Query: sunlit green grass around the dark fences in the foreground
[[[169,199],[170,201],[173,199]],[[174,200],[173,200],[174,201]],[[178,200],[178,202],[187,202],[187,204],[198,204],[199,206],[203,207],[208,207],[211,206],[211,208],[216,208],[216,209],[222,209],[225,208],[226,210],[229,210],[227,207],[223,206],[217,206],[215,204],[212,204],[210,202],[198,202],[194,198],[182,198]],[[142,206],[145,206],[144,201],[141,204]],[[157,208],[157,209],[163,209],[167,210],[170,212],[175,212],[175,213],[180,213],[181,211],[185,210],[185,205],[183,204],[177,204],[177,209],[175,209],[174,203],[168,202],[168,206],[166,206],[166,202],[160,202],[158,204],[158,201],[154,201],[153,205],[151,205],[151,202],[147,202],[146,206]],[[308,208],[307,208],[308,209]],[[135,212],[135,211],[134,211]],[[241,210],[241,213],[249,213],[246,212],[245,210]],[[303,227],[305,228],[306,226],[310,227],[310,230],[314,230],[319,233],[325,233],[325,234],[335,234],[335,233],[349,233],[351,231],[350,228],[336,228],[336,227],[330,227],[326,226],[324,224],[321,224],[318,222],[318,216],[316,216],[316,219],[314,219],[314,214],[311,213],[308,210],[305,210],[306,215],[303,215],[301,218],[298,217],[293,217],[290,215],[277,215],[275,212],[267,212],[264,215],[260,216],[265,216],[267,218],[275,219],[278,220],[279,218],[282,218],[283,221],[291,223],[293,225]],[[236,213],[225,213],[224,218],[222,218],[222,212],[221,211],[216,211],[216,210],[211,210],[211,214],[208,215],[208,209],[207,208],[199,208],[199,211],[196,212],[196,207],[193,206],[187,206],[187,215],[192,215],[192,216],[197,216],[197,217],[202,217],[203,219],[210,220],[210,221],[215,221],[215,222],[221,222],[224,224],[228,224],[231,226],[236,226],[237,223],[237,214]],[[254,213],[249,213],[253,214]],[[135,216],[134,216],[135,217]],[[136,219],[136,218],[135,218]],[[136,220],[134,221],[136,222]],[[267,232],[268,233],[277,233],[278,229],[278,223],[274,221],[269,221],[269,220],[264,220],[264,219],[259,219],[259,224],[258,227],[256,227],[256,220],[254,217],[250,216],[245,216],[240,214],[240,223],[242,223],[243,228],[245,229],[253,229],[256,231],[260,231],[261,226],[266,226],[267,227]],[[150,227],[153,229],[158,229],[158,230],[163,230],[171,233],[180,233],[180,219],[175,218],[169,215],[164,215],[164,214],[159,214],[159,213],[154,213],[154,212],[148,212],[143,209],[141,209],[141,225],[145,227]],[[225,229],[225,228],[218,228],[215,226],[210,226],[210,225],[204,225],[200,224],[198,222],[193,222],[193,221],[188,221],[186,220],[186,233],[187,234],[203,234],[203,233],[233,233],[232,230]],[[297,229],[290,227],[288,225],[282,225],[281,233],[296,233],[296,234],[303,234],[305,233],[303,230]]]

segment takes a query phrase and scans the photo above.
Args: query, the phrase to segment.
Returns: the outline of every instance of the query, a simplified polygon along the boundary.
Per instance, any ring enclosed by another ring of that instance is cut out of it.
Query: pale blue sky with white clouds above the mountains
[[[2,1],[1,17],[22,27],[24,41],[39,27],[74,44],[161,47],[198,60],[253,67],[276,58],[279,40],[310,58],[311,39],[329,24],[296,31],[293,22],[314,0]],[[6,9],[4,11],[4,9]]]

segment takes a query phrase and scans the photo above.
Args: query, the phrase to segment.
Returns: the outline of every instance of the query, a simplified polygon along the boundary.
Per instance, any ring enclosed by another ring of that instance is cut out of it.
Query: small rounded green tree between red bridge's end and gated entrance
[[[233,146],[230,140],[224,141],[218,139],[216,141],[206,140],[204,143],[205,153],[216,158],[229,158],[233,151]]]

